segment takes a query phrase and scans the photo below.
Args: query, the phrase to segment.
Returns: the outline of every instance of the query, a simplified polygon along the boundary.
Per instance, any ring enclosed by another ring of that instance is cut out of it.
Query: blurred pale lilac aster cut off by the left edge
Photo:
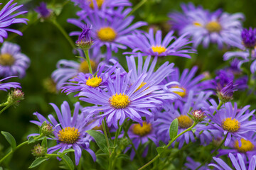
[[[21,47],[4,42],[0,54],[0,77],[18,76],[23,78],[30,64],[29,58],[21,53]]]

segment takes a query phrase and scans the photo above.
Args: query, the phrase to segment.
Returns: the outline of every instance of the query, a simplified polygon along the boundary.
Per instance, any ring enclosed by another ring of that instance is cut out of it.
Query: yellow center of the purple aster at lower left
[[[58,132],[58,139],[63,143],[73,144],[78,140],[80,132],[77,128],[64,128]]]

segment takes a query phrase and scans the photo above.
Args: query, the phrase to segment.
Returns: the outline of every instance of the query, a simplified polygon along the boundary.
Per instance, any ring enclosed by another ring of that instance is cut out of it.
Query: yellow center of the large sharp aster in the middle
[[[114,108],[126,108],[130,103],[130,99],[125,94],[114,94],[110,97],[110,104]]]

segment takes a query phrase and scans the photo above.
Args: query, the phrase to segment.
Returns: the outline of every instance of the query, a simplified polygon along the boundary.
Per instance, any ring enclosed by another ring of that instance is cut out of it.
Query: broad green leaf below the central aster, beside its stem
[[[86,132],[93,137],[98,147],[100,147],[100,149],[102,149],[103,152],[108,153],[105,135],[103,135],[101,132],[98,132],[96,130],[87,130]]]

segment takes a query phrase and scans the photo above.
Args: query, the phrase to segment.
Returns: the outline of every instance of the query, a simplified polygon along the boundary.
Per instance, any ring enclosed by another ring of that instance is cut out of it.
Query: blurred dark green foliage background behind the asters
[[[133,6],[139,3],[140,0],[132,0]],[[6,0],[1,1],[6,4]],[[39,0],[21,0],[16,1],[18,4],[25,4],[23,8],[26,8],[29,12],[25,17],[30,18],[28,26],[16,24],[14,28],[23,30],[23,36],[16,36],[13,33],[9,33],[9,38],[6,41],[15,42],[21,46],[21,51],[31,59],[31,66],[27,70],[26,77],[24,79],[12,79],[12,81],[18,81],[21,83],[22,90],[25,93],[25,100],[21,101],[20,105],[16,108],[11,107],[0,115],[0,130],[10,132],[16,138],[17,143],[21,143],[26,140],[26,136],[31,132],[37,132],[36,125],[29,123],[30,120],[35,120],[36,116],[33,116],[34,112],[48,115],[53,113],[53,108],[48,103],[55,103],[57,106],[63,101],[68,101],[71,105],[72,97],[68,97],[65,94],[50,93],[43,82],[50,77],[50,74],[55,70],[55,65],[58,60],[77,60],[73,55],[73,49],[68,41],[63,37],[60,31],[53,26],[52,23],[46,21],[42,22],[38,19],[36,12],[33,10],[39,5]],[[61,10],[60,15],[57,17],[58,23],[70,33],[73,30],[79,30],[76,26],[67,23],[68,18],[76,18],[75,13],[79,10],[77,6],[74,6],[73,2],[68,1],[45,1],[46,3],[58,7]],[[188,3],[189,1],[171,1],[171,0],[148,0],[144,6],[135,11],[135,21],[146,21],[149,26],[158,28],[164,31],[166,34],[170,26],[167,21],[169,20],[167,14],[171,11],[181,11],[181,2]],[[208,8],[210,11],[215,11],[218,8],[223,8],[223,11],[228,13],[244,13],[245,14],[245,28],[250,26],[256,26],[256,1],[242,1],[242,0],[215,0],[215,1],[192,1],[196,6],[201,5],[203,8]],[[60,8],[62,4],[65,4],[63,8]],[[3,5],[2,5],[3,6]],[[2,8],[2,6],[0,8]],[[148,28],[144,27],[144,30]],[[76,37],[73,37],[75,42]],[[125,64],[124,55],[122,50],[116,55],[121,63]],[[181,57],[168,57],[161,60],[162,63],[166,60],[174,62],[176,66],[181,69],[185,67],[192,67],[198,65],[199,72],[210,71],[214,74],[214,70],[223,67],[223,53],[225,50],[218,50],[215,45],[211,45],[209,49],[198,48],[198,55],[193,55],[192,59],[186,59]],[[206,64],[208,62],[208,64]],[[199,73],[198,72],[198,73]],[[6,92],[0,91],[1,102],[6,100]],[[253,103],[252,103],[253,104]],[[255,106],[254,106],[255,107]],[[0,157],[3,157],[6,153],[6,148],[9,144],[4,137],[0,135]],[[7,165],[7,169],[28,169],[28,166],[33,162],[33,156],[31,155],[31,149],[33,145],[29,147],[22,147],[18,149],[14,156],[11,158],[11,164]],[[87,155],[87,159],[90,156]],[[50,160],[41,164],[36,169],[58,169],[58,160]]]

